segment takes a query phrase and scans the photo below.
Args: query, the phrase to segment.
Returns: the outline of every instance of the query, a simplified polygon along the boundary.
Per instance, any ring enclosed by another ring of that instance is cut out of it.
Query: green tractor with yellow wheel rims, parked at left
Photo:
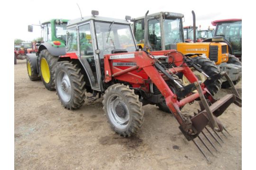
[[[51,19],[41,25],[28,26],[28,32],[33,32],[33,26],[41,26],[43,41],[37,43],[37,53],[27,54],[27,73],[32,81],[42,79],[48,90],[55,90],[58,56],[66,53],[67,22],[67,19]]]

